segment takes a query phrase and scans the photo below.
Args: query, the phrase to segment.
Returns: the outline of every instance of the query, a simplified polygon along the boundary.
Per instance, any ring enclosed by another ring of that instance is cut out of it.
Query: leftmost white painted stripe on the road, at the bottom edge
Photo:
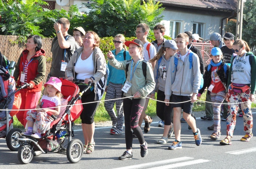
[[[120,167],[120,168],[115,168],[115,169],[142,168],[142,167],[147,167],[147,166],[152,166],[152,165],[172,163],[172,162],[188,160],[188,159],[193,159],[193,158],[192,157],[180,157],[180,158],[167,159],[167,160],[158,161],[158,162],[145,163],[145,164],[139,164],[139,165],[133,165],[133,166],[127,166],[127,167]]]

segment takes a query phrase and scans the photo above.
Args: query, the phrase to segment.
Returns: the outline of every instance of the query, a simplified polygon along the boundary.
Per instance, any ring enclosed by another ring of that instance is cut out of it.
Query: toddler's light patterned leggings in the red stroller
[[[27,120],[29,121],[35,121],[35,127],[37,128],[36,132],[41,134],[44,127],[46,126],[46,123],[49,121],[52,121],[50,119],[50,116],[45,112],[39,112],[29,110],[27,112]]]

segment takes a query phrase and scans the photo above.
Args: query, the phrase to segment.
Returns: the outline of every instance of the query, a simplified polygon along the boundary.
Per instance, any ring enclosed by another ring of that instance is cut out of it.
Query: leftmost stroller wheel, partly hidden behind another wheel
[[[11,151],[19,150],[20,145],[17,138],[21,136],[21,133],[22,131],[19,129],[12,129],[8,132],[6,136],[6,144]]]

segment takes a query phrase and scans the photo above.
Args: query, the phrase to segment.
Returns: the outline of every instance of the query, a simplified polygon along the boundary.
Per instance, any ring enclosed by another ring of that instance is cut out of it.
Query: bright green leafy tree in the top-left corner
[[[42,0],[7,0],[0,1],[0,33],[2,35],[20,35],[20,40],[30,34],[41,35],[37,24],[42,22]]]

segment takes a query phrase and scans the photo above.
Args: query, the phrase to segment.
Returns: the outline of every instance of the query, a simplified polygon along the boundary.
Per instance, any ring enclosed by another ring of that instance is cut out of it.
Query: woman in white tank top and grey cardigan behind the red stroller
[[[80,115],[84,134],[84,152],[90,154],[94,151],[94,115],[99,106],[98,101],[102,98],[104,87],[100,81],[106,73],[106,60],[99,48],[100,38],[93,31],[87,31],[83,39],[83,47],[76,50],[72,55],[65,72],[68,80],[83,79],[85,84],[91,82],[91,88],[81,98],[82,103],[93,102],[83,105]],[[80,90],[84,85],[79,85]],[[102,91],[103,90],[103,91]]]

